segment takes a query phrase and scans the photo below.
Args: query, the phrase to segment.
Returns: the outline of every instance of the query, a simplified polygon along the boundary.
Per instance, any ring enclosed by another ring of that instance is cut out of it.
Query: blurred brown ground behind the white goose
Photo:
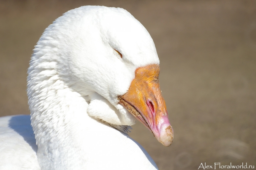
[[[154,40],[175,138],[163,147],[140,122],[131,137],[160,170],[197,170],[204,162],[256,165],[253,0],[0,0],[0,116],[29,114],[33,46],[53,20],[84,5],[122,7]]]

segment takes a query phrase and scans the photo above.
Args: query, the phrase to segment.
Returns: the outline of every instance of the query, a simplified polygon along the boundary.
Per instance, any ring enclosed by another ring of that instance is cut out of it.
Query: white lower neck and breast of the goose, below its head
[[[31,114],[41,170],[156,169],[140,144],[90,118],[78,93],[61,89],[44,102],[47,110]]]

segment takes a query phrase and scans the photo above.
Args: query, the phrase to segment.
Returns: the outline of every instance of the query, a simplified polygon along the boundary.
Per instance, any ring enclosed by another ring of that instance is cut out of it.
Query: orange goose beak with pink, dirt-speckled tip
[[[139,67],[135,78],[124,95],[119,96],[119,104],[143,123],[164,146],[170,146],[173,130],[168,119],[166,104],[159,85],[158,64]]]

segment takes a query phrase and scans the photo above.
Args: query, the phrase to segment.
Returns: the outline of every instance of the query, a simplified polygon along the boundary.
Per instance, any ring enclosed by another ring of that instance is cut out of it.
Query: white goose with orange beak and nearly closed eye
[[[128,132],[138,120],[172,143],[159,72],[151,36],[125,9],[64,13],[33,50],[31,115],[0,118],[0,169],[156,170]]]

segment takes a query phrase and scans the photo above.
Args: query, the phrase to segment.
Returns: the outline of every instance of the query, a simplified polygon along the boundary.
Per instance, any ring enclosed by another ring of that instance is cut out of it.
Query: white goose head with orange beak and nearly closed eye
[[[49,89],[68,89],[87,102],[84,112],[91,118],[117,129],[139,120],[169,146],[173,130],[159,72],[154,42],[129,12],[103,6],[70,10],[44,31],[32,55],[27,91],[33,129],[33,114],[40,110],[35,101],[46,99]]]

